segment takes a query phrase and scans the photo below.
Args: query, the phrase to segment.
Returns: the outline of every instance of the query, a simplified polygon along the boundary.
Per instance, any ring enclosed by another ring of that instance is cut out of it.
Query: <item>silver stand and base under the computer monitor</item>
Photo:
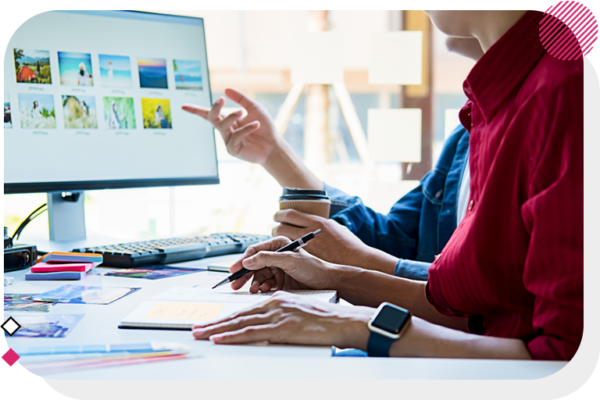
[[[38,251],[71,251],[91,246],[123,242],[109,236],[86,234],[83,192],[48,193],[50,237],[27,235],[27,229],[15,243],[35,245]]]

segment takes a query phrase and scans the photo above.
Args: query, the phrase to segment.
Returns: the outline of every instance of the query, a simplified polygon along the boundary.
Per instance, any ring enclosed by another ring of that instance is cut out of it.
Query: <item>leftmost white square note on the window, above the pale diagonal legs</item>
[[[344,80],[342,35],[333,32],[296,34],[292,49],[292,83],[333,84]]]

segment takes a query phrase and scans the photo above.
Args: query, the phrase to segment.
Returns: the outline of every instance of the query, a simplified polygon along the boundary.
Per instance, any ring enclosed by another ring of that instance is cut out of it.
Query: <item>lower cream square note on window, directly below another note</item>
[[[369,109],[369,152],[373,161],[421,162],[421,109]]]

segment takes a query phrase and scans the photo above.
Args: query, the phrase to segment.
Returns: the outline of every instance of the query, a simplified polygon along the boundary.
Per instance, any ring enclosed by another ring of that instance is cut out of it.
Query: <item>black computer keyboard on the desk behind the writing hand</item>
[[[209,236],[146,240],[109,246],[73,249],[75,253],[102,254],[102,265],[133,268],[171,264],[204,257],[243,253],[249,246],[269,239],[266,235],[215,233]]]

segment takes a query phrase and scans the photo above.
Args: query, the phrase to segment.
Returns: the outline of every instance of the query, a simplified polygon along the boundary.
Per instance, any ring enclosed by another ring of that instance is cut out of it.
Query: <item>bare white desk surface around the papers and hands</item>
[[[177,264],[204,269],[210,262],[234,260],[213,257]],[[80,281],[25,281],[27,271],[11,272],[13,285],[5,293],[42,293],[65,284],[142,289],[109,305],[57,304],[50,313],[85,314],[65,338],[5,337],[8,348],[66,344],[139,343],[169,341],[189,346],[199,356],[186,360],[92,369],[47,375],[51,379],[231,379],[243,371],[245,379],[538,379],[560,370],[565,362],[386,359],[331,357],[328,346],[227,346],[194,340],[187,331],[118,329],[122,318],[142,301],[172,286],[194,286],[223,273],[201,271],[156,281],[87,275]],[[17,314],[15,319],[17,319]],[[4,314],[4,319],[8,314]],[[277,365],[278,368],[273,368]]]

